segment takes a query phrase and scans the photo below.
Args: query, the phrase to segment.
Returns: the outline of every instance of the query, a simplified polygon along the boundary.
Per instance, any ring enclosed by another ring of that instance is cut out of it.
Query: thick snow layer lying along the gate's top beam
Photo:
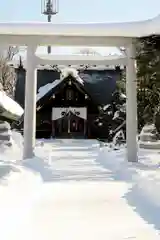
[[[0,34],[54,36],[141,37],[160,34],[160,16],[154,19],[123,23],[0,23]]]

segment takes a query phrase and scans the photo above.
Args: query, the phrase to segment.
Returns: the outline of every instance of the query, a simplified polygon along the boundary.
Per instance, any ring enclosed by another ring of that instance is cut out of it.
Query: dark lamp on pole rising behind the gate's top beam
[[[59,11],[59,0],[41,0],[41,12],[47,16],[48,22],[52,21],[52,16]],[[48,54],[51,53],[51,46],[48,46]]]

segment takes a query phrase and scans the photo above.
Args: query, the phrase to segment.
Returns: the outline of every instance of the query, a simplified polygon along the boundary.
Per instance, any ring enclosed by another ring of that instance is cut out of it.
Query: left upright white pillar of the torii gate
[[[24,150],[23,158],[34,156],[36,134],[36,95],[37,69],[35,47],[27,48],[27,68],[25,81],[25,112],[24,112]]]

